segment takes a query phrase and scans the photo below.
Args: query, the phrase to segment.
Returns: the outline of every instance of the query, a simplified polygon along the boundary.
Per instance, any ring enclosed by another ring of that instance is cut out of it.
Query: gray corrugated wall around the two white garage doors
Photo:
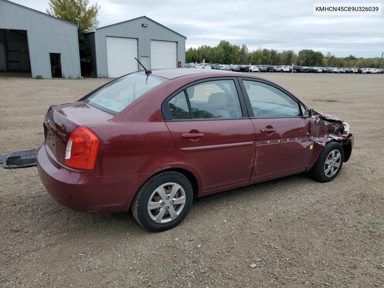
[[[148,26],[143,27],[142,23],[146,23]],[[148,18],[141,17],[129,22],[102,27],[91,33],[94,33],[95,38],[93,53],[96,52],[98,77],[108,76],[106,36],[137,38],[139,60],[141,56],[149,56],[149,65],[151,65],[151,40],[175,41],[177,42],[177,61],[181,61],[182,67],[184,67],[185,38]],[[177,63],[175,63],[176,67]]]

